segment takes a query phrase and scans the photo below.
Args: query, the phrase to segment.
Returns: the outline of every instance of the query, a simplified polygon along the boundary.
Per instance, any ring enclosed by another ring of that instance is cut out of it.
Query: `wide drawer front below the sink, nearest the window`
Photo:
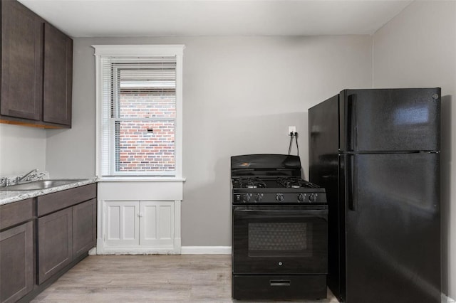
[[[46,215],[46,213],[52,213],[53,211],[88,201],[91,198],[96,198],[96,195],[97,185],[95,183],[67,189],[66,191],[49,193],[37,198],[36,213],[38,217],[41,217]]]

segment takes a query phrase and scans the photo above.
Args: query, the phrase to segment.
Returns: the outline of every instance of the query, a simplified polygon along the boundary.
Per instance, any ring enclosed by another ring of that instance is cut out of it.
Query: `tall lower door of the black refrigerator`
[[[439,154],[346,157],[346,302],[440,303]]]

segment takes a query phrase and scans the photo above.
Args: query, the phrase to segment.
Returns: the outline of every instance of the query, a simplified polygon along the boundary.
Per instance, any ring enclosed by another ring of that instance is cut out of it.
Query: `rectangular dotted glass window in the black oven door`
[[[312,255],[312,223],[249,223],[249,257]]]

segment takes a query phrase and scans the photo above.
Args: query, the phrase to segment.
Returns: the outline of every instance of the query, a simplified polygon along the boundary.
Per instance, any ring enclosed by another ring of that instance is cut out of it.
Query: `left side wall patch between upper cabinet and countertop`
[[[0,124],[0,176],[46,168],[46,130]]]

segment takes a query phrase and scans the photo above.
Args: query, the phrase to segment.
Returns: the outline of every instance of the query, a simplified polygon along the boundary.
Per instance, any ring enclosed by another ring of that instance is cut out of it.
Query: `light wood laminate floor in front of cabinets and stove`
[[[231,255],[93,255],[31,302],[237,301],[231,298]],[[327,299],[287,302],[338,301],[328,290]]]

